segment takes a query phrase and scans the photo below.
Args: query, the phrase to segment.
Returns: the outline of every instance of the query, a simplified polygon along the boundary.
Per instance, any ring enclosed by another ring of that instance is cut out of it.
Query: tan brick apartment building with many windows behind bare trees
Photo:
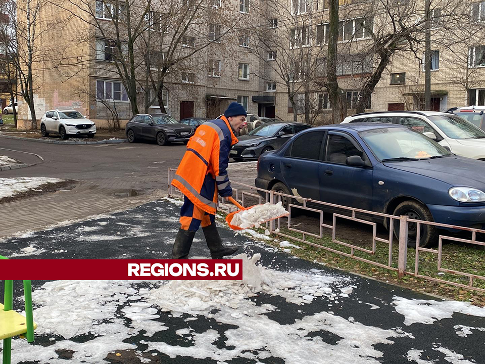
[[[110,26],[106,5],[114,3],[103,1],[104,3],[100,0],[92,1],[93,16]],[[280,6],[275,7],[275,4]],[[352,45],[347,49],[342,48],[342,52],[360,57],[360,45],[370,38],[370,33],[362,24],[375,27],[377,20],[369,17],[365,6],[360,10],[348,8],[345,11],[346,7],[355,4],[362,2],[342,2],[340,43],[344,44],[352,39]],[[485,2],[477,4],[477,20],[481,21],[480,7],[485,6]],[[293,107],[288,103],[285,83],[275,71],[276,67],[271,65],[283,52],[277,47],[274,50],[258,48],[258,39],[255,38],[259,35],[255,29],[271,32],[276,28],[284,28],[289,37],[300,38],[301,47],[317,54],[318,49],[326,47],[325,39],[328,37],[327,2],[210,0],[209,5],[213,12],[224,8],[230,14],[224,13],[224,16],[219,17],[219,22],[211,22],[210,25],[200,28],[198,34],[193,34],[193,39],[207,37],[211,44],[194,56],[198,65],[193,70],[173,73],[167,78],[164,104],[168,112],[177,120],[191,116],[216,117],[230,101],[237,101],[244,105],[248,113],[292,120]],[[284,12],[275,9],[283,9]],[[55,67],[49,57],[36,63],[34,82],[37,119],[46,110],[69,108],[80,111],[99,126],[104,126],[110,118],[109,109],[115,108],[123,126],[132,116],[132,112],[121,80],[109,69],[113,66],[110,65],[110,57],[114,53],[110,40],[104,39],[91,22],[86,22],[83,18],[86,16],[85,9],[82,10],[81,6],[71,7],[68,11],[49,3],[42,9],[42,16],[58,20],[43,33],[43,44],[63,54],[55,57],[58,61]],[[60,26],[62,22],[59,19],[69,19],[68,25]],[[219,41],[219,36],[224,34],[231,19],[238,23],[238,27],[227,36],[222,36]],[[191,47],[192,40],[191,37],[188,38],[189,41],[184,46]],[[287,42],[287,47],[292,47],[290,41]],[[480,45],[479,41],[460,43],[453,49],[440,49],[437,45],[432,45],[432,50],[433,109],[447,110],[468,103],[485,105],[485,71],[482,69],[485,66],[485,45]],[[59,62],[62,57],[66,59]],[[362,76],[368,75],[373,67],[372,58],[368,56],[361,59],[358,67],[353,62],[352,57],[347,57],[338,71],[338,82],[346,93],[349,114],[359,98]],[[142,84],[143,80],[139,81]],[[420,108],[423,90],[424,71],[420,61],[411,53],[396,54],[375,87],[368,110]],[[144,112],[144,92],[144,87],[140,86],[139,112]],[[152,96],[150,92],[149,96]],[[322,111],[319,118],[315,119],[316,123],[325,118],[328,122],[331,105],[323,88],[312,87],[309,97],[313,107]],[[19,99],[19,119],[29,119],[28,107]],[[304,102],[302,93],[296,95],[296,99],[297,104]],[[155,102],[149,107],[148,112],[160,112],[158,103]],[[298,114],[299,120],[303,120],[301,111]]]

